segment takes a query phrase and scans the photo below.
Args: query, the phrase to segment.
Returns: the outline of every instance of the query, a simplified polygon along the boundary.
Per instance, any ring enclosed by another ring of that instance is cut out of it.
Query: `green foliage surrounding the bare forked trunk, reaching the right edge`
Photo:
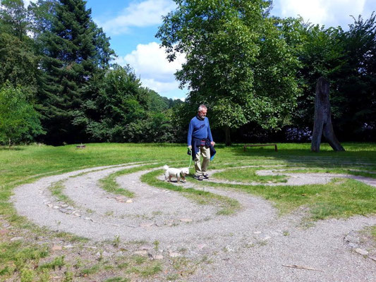
[[[308,25],[285,20],[282,30],[301,62],[295,124],[311,126],[315,86],[320,76],[330,85],[334,131],[340,140],[372,140],[376,136],[375,116],[375,14],[368,20],[354,18],[349,30],[341,27]]]

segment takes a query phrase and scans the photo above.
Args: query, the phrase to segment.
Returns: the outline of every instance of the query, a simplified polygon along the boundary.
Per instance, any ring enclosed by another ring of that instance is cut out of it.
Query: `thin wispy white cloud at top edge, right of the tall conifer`
[[[102,26],[105,32],[119,35],[128,32],[130,27],[158,25],[162,23],[162,16],[166,16],[175,7],[174,2],[170,0],[133,2],[127,8],[123,9],[119,16],[104,23],[99,23],[99,26]]]

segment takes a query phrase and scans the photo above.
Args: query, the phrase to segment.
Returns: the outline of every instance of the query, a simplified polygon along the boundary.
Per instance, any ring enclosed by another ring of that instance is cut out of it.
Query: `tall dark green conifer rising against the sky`
[[[109,38],[91,19],[91,10],[82,0],[61,0],[52,6],[51,23],[37,25],[44,32],[36,35],[42,54],[38,92],[39,111],[47,129],[45,142],[83,142],[85,128],[73,123],[83,102],[95,93],[88,87],[108,68],[114,51]],[[49,1],[41,1],[47,5]],[[44,11],[48,11],[44,8]]]

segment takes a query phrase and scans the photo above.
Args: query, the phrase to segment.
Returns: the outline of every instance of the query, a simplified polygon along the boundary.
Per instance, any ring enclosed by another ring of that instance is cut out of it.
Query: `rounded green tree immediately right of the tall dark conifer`
[[[125,142],[129,123],[145,118],[150,97],[129,66],[114,65],[87,87],[92,93],[75,111],[73,123],[85,128],[92,141]]]

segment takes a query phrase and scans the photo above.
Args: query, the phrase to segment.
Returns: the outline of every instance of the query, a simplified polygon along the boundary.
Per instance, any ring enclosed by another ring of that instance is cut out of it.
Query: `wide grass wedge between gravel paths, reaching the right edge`
[[[235,188],[274,203],[281,214],[298,207],[310,208],[311,219],[349,217],[376,213],[376,189],[351,179],[334,179],[326,185],[265,186],[205,182],[204,185]]]

